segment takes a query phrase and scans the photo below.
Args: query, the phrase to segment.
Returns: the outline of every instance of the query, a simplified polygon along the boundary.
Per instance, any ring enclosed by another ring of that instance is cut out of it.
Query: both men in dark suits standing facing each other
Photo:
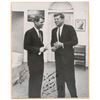
[[[56,79],[58,97],[65,97],[65,82],[71,97],[77,97],[75,86],[73,46],[78,43],[74,28],[64,24],[62,13],[54,14],[56,28],[52,30],[51,47],[55,52]],[[40,98],[44,70],[43,32],[40,30],[44,23],[42,16],[34,17],[34,27],[28,30],[24,38],[24,49],[28,52],[29,66],[29,98]]]

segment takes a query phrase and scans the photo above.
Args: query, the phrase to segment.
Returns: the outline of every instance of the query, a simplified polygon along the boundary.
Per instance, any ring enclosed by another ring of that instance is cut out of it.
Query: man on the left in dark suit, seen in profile
[[[44,70],[43,52],[46,50],[43,45],[43,32],[40,30],[43,26],[44,18],[35,16],[33,22],[34,27],[25,34],[24,49],[28,52],[29,98],[39,98],[41,96]]]

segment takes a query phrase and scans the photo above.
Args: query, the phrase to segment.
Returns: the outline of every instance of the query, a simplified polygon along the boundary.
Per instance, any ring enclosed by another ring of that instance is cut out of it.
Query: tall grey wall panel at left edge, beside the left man
[[[24,12],[12,12],[12,52],[23,53]]]

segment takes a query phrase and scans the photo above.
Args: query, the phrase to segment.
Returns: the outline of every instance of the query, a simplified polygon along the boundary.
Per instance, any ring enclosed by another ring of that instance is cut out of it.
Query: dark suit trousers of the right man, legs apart
[[[63,58],[59,55],[56,56],[56,80],[58,97],[65,97],[65,82],[67,83],[68,90],[71,97],[77,97],[75,87],[75,72],[74,66],[68,66],[63,63]]]

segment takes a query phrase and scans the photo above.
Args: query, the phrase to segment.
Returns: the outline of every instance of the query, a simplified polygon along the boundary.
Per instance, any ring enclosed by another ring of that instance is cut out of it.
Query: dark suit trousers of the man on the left
[[[43,69],[39,71],[30,71],[29,98],[41,97],[42,78],[43,78]]]

